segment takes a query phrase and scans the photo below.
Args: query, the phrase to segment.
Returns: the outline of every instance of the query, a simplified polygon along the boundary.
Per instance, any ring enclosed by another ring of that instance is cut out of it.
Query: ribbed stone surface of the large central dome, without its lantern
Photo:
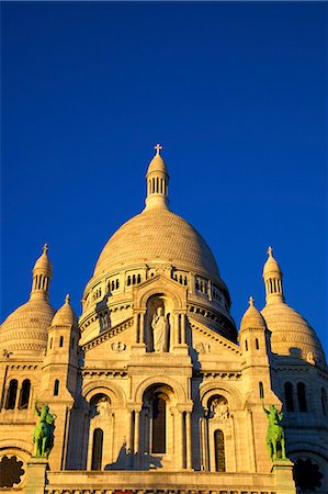
[[[163,209],[144,211],[121,226],[102,250],[94,276],[154,261],[219,278],[203,237],[180,216]]]

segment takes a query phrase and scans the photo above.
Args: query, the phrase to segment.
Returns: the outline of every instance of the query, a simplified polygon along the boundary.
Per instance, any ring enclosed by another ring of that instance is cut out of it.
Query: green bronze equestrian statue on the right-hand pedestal
[[[267,409],[262,403],[262,407],[269,418],[267,446],[271,460],[286,460],[285,434],[281,425],[283,413],[279,413],[274,405],[270,405],[270,408]]]

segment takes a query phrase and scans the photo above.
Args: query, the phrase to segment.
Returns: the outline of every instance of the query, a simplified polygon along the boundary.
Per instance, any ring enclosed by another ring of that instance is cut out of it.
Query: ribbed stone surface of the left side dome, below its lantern
[[[0,351],[38,352],[47,346],[47,330],[55,310],[46,300],[30,300],[3,322],[0,329]]]

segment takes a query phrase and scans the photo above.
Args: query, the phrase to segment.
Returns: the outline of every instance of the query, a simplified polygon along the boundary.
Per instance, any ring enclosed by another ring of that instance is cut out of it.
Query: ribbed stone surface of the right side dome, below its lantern
[[[310,325],[283,302],[268,304],[262,311],[268,328],[272,332],[271,349],[274,353],[290,355],[299,351],[306,359],[313,352],[316,360],[325,362],[321,344]]]

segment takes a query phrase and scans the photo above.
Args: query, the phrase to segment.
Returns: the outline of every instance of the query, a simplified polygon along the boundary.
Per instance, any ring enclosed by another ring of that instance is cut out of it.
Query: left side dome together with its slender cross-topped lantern
[[[55,310],[48,302],[53,269],[47,245],[33,268],[32,291],[29,302],[18,307],[3,322],[0,329],[0,351],[39,356],[47,347],[48,327]]]

